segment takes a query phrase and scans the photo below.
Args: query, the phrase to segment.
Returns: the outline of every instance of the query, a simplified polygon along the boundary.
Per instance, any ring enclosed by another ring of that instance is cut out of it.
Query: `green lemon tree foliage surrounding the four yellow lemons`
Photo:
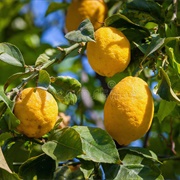
[[[40,43],[43,28],[34,24],[32,11],[21,11],[29,1],[0,4],[2,179],[180,177],[180,4],[169,0],[106,3],[109,11],[104,25],[120,29],[131,42],[132,53],[128,68],[112,78],[90,74],[84,66],[86,42],[94,41],[88,20],[66,34],[68,45],[54,48]],[[52,2],[46,17],[67,7],[68,3]],[[73,77],[64,76],[66,72]],[[100,119],[106,96],[128,75],[148,82],[154,95],[153,124],[138,140],[139,147],[132,147],[133,143],[119,147],[103,130]],[[59,129],[60,118],[54,129],[39,139],[16,132],[19,120],[13,114],[14,100],[25,86],[51,92],[59,111],[71,116],[70,126]]]

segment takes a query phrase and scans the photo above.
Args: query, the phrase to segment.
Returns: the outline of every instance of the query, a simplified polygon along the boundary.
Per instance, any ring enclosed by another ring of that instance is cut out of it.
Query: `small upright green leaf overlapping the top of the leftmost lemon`
[[[50,76],[49,76],[48,72],[45,70],[40,70],[39,76],[38,76],[37,87],[41,87],[41,88],[47,90],[50,83],[51,83],[51,81],[50,81]]]

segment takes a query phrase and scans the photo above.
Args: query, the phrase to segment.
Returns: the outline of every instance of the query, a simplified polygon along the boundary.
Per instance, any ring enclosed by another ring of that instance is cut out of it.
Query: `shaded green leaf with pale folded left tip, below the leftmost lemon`
[[[83,153],[79,134],[73,128],[56,130],[42,150],[56,161],[66,161]]]

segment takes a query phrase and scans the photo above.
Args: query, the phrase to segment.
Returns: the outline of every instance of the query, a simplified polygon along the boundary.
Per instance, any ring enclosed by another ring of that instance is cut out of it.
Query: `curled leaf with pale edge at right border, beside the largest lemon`
[[[171,82],[166,72],[160,69],[161,81],[158,84],[157,94],[166,101],[180,102],[180,99],[176,96],[173,89],[171,88]]]

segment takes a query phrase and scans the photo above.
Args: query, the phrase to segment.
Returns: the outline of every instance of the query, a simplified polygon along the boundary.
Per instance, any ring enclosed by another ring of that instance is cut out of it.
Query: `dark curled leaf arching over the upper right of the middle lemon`
[[[143,26],[135,24],[126,16],[118,13],[105,20],[105,26],[111,26],[121,30],[130,41],[141,41],[150,35],[149,30]]]

